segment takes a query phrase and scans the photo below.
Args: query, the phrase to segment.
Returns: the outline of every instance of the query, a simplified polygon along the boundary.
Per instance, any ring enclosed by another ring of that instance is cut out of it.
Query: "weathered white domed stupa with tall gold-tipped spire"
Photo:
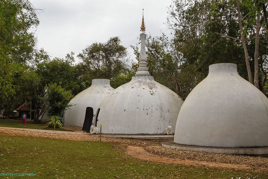
[[[142,19],[141,31],[145,32]],[[97,126],[107,134],[162,134],[175,124],[183,100],[172,90],[154,81],[147,67],[146,34],[141,33],[139,68],[136,75],[109,94],[100,104]]]

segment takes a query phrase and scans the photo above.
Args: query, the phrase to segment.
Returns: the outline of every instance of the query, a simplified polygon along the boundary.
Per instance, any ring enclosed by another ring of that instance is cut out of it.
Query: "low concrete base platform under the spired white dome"
[[[173,141],[174,135],[158,135],[158,134],[101,134],[102,137],[118,137],[125,139],[140,139],[154,141]]]

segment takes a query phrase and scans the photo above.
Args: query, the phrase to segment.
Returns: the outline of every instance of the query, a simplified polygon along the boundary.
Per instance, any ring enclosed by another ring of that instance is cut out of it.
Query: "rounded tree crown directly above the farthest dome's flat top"
[[[78,65],[82,78],[113,79],[123,73],[127,67],[127,50],[120,45],[119,37],[111,37],[105,43],[93,43],[78,55],[81,60]]]

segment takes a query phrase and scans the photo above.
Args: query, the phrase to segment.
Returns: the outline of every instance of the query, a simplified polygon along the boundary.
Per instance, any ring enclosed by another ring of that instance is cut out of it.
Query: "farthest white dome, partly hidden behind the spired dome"
[[[82,126],[86,108],[93,108],[95,114],[102,100],[113,91],[114,88],[110,86],[110,80],[93,79],[89,88],[77,94],[69,102],[73,106],[64,113],[64,126]]]

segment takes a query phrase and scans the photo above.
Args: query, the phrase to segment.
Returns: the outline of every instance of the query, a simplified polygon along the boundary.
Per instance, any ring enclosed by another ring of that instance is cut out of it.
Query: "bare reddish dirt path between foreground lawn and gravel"
[[[194,166],[206,166],[206,167],[224,167],[232,169],[252,169],[253,167],[243,164],[230,164],[223,162],[206,162],[197,160],[181,160],[178,158],[161,157],[154,155],[144,150],[143,147],[138,146],[127,146],[125,153],[131,157],[138,158],[141,160],[148,160],[153,162],[161,162],[167,164],[183,164],[183,165],[194,165]],[[260,168],[260,167],[258,167]],[[260,168],[267,170],[268,168]]]

